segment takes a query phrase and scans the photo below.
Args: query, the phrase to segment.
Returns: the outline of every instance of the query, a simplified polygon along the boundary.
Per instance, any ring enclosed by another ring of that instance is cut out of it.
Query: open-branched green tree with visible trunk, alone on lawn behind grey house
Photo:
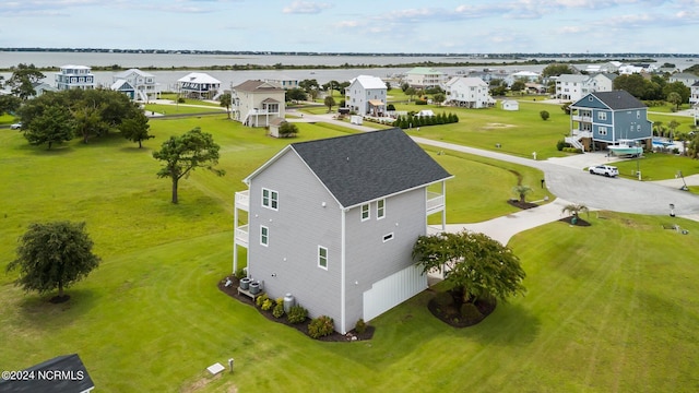
[[[178,203],[179,180],[190,171],[206,168],[218,176],[225,175],[224,170],[214,168],[218,164],[218,148],[213,136],[197,127],[182,135],[170,136],[159,151],[153,152],[153,157],[163,162],[157,177],[173,181],[173,203]]]

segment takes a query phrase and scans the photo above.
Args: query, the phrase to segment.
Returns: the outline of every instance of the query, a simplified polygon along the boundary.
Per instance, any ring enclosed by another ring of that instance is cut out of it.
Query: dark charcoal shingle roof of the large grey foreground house
[[[451,177],[399,128],[291,147],[344,207]]]

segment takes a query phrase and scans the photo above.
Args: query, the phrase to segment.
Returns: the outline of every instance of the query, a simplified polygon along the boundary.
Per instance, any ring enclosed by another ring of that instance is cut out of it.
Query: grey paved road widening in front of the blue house
[[[360,131],[374,131],[368,127],[333,120],[332,116],[328,115],[304,115],[303,119],[296,119],[295,121],[336,122]],[[674,184],[680,184],[682,180],[679,179],[674,182],[638,181],[625,178],[606,178],[590,175],[583,170],[590,165],[608,162],[609,158],[604,154],[585,153],[571,159],[534,160],[425,138],[414,136],[413,140],[417,143],[439,148],[476,154],[541,169],[545,174],[546,187],[553,194],[565,201],[584,204],[593,210],[668,215],[670,204],[673,203],[677,216],[699,221],[699,196],[687,191],[680,191],[679,186],[675,187]],[[688,178],[688,183],[699,183],[699,177]]]

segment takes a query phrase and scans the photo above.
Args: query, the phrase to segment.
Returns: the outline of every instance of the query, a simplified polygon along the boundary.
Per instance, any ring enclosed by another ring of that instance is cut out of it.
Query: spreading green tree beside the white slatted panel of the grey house
[[[519,258],[484,234],[464,230],[420,236],[413,247],[413,258],[424,274],[445,273],[445,282],[463,294],[463,302],[487,297],[505,301],[525,290]]]

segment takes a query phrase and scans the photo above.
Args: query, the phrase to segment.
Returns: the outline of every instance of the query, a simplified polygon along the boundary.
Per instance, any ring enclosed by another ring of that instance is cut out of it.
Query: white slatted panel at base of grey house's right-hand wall
[[[427,275],[410,266],[371,285],[364,293],[364,320],[370,321],[427,288]]]

